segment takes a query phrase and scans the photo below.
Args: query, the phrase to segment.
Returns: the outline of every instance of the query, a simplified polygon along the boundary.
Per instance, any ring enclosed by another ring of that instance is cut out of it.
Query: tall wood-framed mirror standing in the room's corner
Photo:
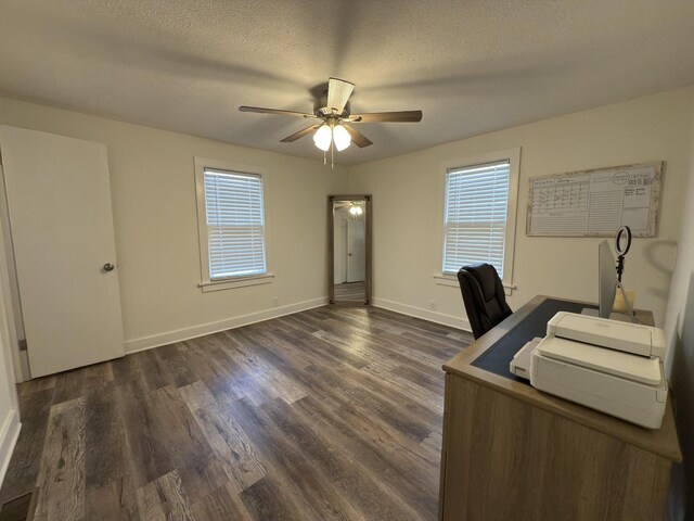
[[[371,301],[371,195],[330,195],[331,304]]]

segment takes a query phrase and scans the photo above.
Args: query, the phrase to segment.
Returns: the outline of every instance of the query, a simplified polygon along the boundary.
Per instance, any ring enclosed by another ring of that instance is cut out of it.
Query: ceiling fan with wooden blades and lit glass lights
[[[313,142],[316,143],[316,147],[321,149],[323,152],[330,150],[332,144],[334,144],[338,151],[345,150],[351,142],[359,148],[372,144],[369,138],[347,124],[394,122],[416,123],[422,119],[422,111],[352,114],[349,104],[349,97],[351,96],[352,90],[355,90],[355,84],[345,81],[344,79],[330,78],[327,80],[327,90],[325,90],[323,96],[317,99],[313,103],[312,114],[245,105],[240,106],[239,110],[241,112],[257,112],[260,114],[279,114],[303,117],[306,119],[318,119],[318,123],[313,123],[298,132],[287,136],[282,140],[282,142],[291,143],[304,136],[308,136],[312,131],[316,131],[313,135]]]

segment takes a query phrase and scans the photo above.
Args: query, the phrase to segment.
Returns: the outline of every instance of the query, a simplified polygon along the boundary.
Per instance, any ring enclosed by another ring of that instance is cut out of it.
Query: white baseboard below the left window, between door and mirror
[[[177,329],[175,331],[153,334],[151,336],[141,336],[139,339],[127,340],[125,342],[126,353],[137,353],[138,351],[151,350],[153,347],[159,347],[160,345],[167,345],[172,344],[174,342],[195,339],[197,336],[217,333],[227,329],[240,328],[242,326],[248,326],[250,323],[261,322],[270,318],[282,317],[284,315],[291,315],[293,313],[312,309],[314,307],[324,306],[326,304],[327,297],[323,296],[319,298],[311,298],[310,301],[297,302],[286,306],[272,307],[270,309],[264,309],[262,312],[252,313],[249,315],[242,315],[240,317],[218,320],[216,322],[203,323],[200,326],[193,326],[191,328]]]

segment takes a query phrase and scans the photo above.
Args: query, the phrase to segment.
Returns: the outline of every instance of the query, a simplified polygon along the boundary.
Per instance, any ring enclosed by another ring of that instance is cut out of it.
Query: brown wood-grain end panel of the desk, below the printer
[[[442,519],[664,518],[667,458],[448,377]]]

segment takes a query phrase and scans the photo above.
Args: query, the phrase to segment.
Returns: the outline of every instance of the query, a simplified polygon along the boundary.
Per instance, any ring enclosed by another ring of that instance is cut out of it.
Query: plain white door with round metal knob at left
[[[31,378],[123,356],[106,148],[0,126]]]

